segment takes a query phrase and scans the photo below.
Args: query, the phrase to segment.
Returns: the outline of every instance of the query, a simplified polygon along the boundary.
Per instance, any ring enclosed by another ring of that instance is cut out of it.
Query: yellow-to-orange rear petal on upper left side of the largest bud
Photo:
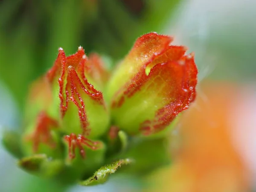
[[[151,63],[158,55],[163,54],[172,42],[172,37],[158,35],[157,33],[148,33],[137,39],[134,47],[119,64],[116,73],[113,74],[109,83],[109,97],[112,98],[116,92],[121,92],[127,82],[145,67]],[[122,88],[121,88],[122,89]]]

